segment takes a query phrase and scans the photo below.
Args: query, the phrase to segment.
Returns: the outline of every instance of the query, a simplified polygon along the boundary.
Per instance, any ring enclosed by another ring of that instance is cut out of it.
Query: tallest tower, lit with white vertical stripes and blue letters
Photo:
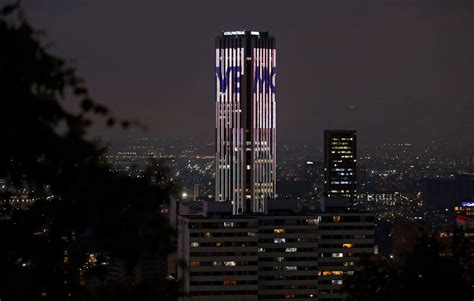
[[[276,184],[276,51],[267,32],[216,39],[216,201],[264,212]]]

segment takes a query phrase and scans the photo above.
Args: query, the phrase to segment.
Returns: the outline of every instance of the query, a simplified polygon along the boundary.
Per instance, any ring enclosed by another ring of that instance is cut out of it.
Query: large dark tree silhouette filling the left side
[[[161,276],[113,290],[81,284],[103,277],[100,266],[81,268],[90,254],[124,262],[128,270],[143,258],[166,256],[173,232],[163,205],[175,183],[162,161],[150,162],[137,178],[111,171],[104,148],[86,138],[93,120],[141,125],[117,120],[92,100],[74,66],[51,54],[42,35],[18,3],[1,8],[0,179],[8,183],[1,199],[28,193],[35,203],[28,210],[5,203],[0,299],[174,299],[176,283]],[[77,102],[77,113],[64,108],[66,101]]]

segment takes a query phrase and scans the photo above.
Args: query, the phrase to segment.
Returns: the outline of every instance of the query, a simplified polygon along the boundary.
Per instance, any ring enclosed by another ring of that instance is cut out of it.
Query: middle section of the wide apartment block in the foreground
[[[317,298],[318,222],[315,216],[259,217],[259,299]]]

